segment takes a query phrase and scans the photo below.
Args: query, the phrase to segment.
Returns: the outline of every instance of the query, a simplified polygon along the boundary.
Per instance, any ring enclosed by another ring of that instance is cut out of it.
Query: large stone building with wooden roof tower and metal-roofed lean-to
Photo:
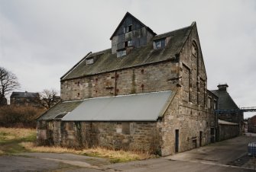
[[[39,144],[168,155],[215,142],[218,97],[195,22],[157,34],[127,13],[110,40],[60,79],[62,101],[37,121]]]

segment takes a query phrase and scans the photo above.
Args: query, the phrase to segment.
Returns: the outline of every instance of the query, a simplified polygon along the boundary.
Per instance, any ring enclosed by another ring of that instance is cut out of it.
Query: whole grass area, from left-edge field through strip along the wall
[[[72,153],[98,158],[109,158],[112,163],[143,160],[154,156],[134,151],[113,151],[105,148],[73,148],[37,146],[35,129],[13,129],[0,127],[0,155],[21,152]]]

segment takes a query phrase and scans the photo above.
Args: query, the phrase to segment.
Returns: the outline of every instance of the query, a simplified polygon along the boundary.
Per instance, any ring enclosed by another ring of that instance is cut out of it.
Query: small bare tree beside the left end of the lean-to
[[[53,107],[54,104],[57,104],[60,101],[60,96],[58,96],[58,91],[54,89],[44,89],[40,93],[40,104],[42,107],[47,108],[47,110],[50,109],[50,107]]]

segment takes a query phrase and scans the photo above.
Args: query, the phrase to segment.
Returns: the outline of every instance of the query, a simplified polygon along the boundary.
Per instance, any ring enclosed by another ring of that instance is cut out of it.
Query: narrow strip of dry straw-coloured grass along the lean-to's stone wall
[[[48,146],[36,146],[33,142],[21,142],[24,148],[30,151],[37,152],[53,152],[53,153],[72,153],[72,154],[83,154],[92,157],[109,158],[112,163],[143,160],[152,158],[150,154],[134,151],[112,151],[105,148],[88,148],[77,151],[73,148],[61,148],[61,147],[48,147]]]

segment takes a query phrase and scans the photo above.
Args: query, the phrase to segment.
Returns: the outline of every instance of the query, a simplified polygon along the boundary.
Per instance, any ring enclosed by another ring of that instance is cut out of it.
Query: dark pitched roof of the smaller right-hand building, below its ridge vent
[[[227,91],[213,90],[212,93],[219,97],[219,110],[239,109]]]

